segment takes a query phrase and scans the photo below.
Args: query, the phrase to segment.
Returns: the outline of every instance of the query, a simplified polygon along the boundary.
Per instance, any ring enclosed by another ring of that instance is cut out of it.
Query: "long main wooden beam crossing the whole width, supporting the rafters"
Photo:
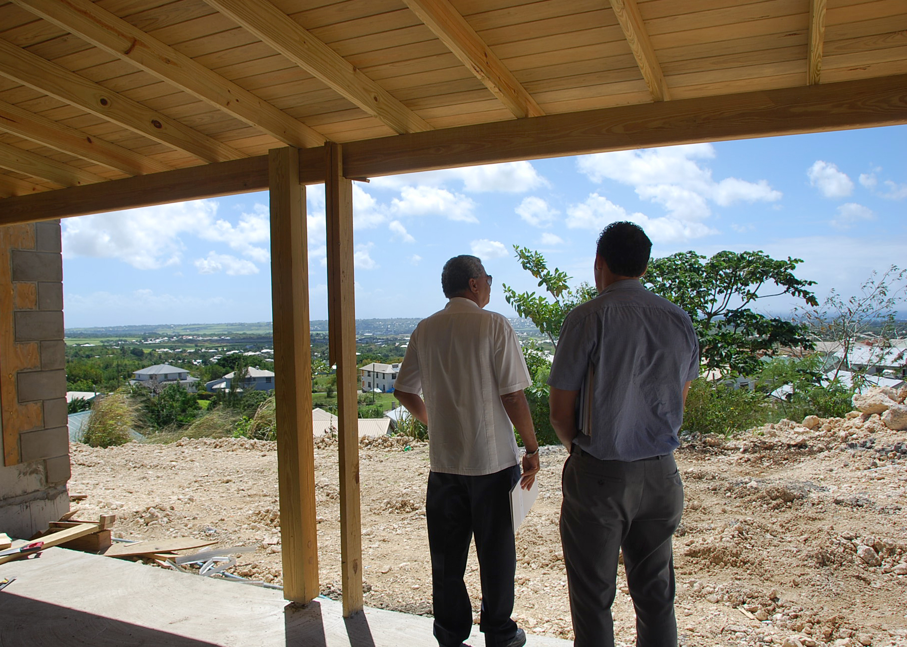
[[[344,144],[344,176],[367,178],[471,164],[722,142],[907,123],[907,74],[780,90],[624,105]],[[321,149],[299,151],[299,181],[324,181]],[[0,201],[0,224],[53,220],[267,188],[249,158],[44,191]]]

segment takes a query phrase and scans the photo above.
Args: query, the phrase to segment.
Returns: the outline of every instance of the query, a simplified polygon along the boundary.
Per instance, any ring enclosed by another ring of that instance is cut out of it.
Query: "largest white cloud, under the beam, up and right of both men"
[[[640,151],[602,152],[577,158],[581,173],[591,181],[619,181],[639,197],[661,204],[668,216],[702,221],[711,210],[708,201],[727,207],[738,201],[777,201],[781,192],[765,180],[712,179],[711,169],[697,160],[716,156],[709,143],[668,146]]]

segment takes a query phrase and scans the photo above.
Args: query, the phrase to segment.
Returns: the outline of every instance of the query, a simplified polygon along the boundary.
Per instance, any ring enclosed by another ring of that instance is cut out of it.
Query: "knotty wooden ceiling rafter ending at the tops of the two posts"
[[[236,83],[161,43],[91,0],[14,0],[16,5],[135,64],[240,121],[291,146],[320,146],[325,137]]]

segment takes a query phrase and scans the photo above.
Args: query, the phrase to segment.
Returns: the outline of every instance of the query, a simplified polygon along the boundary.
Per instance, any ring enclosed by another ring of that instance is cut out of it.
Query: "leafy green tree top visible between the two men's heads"
[[[568,284],[571,277],[567,276],[567,272],[557,268],[549,270],[547,261],[538,251],[517,245],[513,246],[513,250],[516,251],[522,269],[532,274],[533,278],[539,279],[539,287],[544,288],[551,296],[546,297],[535,292],[517,293],[515,289],[504,284],[504,299],[507,299],[507,303],[512,305],[518,315],[532,321],[557,348],[561,324],[567,313],[580,303],[594,298],[598,292],[585,282],[571,289]]]

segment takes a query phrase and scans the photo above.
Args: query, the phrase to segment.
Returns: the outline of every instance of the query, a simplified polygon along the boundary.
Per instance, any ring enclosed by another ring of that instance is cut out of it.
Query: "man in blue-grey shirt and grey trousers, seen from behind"
[[[632,222],[599,238],[599,296],[572,309],[551,365],[551,425],[564,464],[561,542],[576,647],[613,647],[618,554],[638,647],[676,647],[671,537],[683,512],[673,451],[699,344],[689,315],[642,286],[652,243]],[[591,374],[589,368],[592,368]],[[575,404],[583,382],[578,433]]]

